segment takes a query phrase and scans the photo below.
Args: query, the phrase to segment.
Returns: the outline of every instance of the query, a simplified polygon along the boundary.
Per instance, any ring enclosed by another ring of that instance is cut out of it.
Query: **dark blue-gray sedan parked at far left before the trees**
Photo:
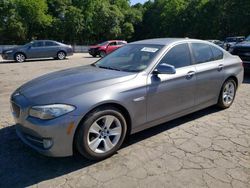
[[[24,62],[26,59],[50,58],[65,59],[66,56],[73,55],[73,49],[66,45],[52,40],[35,40],[23,46],[10,48],[2,52],[5,60],[15,60]]]

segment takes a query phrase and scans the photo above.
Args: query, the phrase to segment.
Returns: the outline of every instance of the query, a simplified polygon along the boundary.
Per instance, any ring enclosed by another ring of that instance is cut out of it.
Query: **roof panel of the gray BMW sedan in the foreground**
[[[132,42],[130,44],[156,44],[156,45],[164,45],[168,46],[175,42],[206,42],[204,40],[198,39],[189,39],[189,38],[155,38],[155,39],[146,39],[140,40],[136,42]]]

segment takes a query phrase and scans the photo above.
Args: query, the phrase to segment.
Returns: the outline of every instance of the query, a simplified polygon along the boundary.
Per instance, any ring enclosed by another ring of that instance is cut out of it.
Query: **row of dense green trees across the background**
[[[224,39],[250,34],[249,10],[249,0],[0,0],[0,43]]]

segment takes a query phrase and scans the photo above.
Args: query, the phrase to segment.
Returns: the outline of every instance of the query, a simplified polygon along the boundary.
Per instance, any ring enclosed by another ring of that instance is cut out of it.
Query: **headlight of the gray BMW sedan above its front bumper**
[[[74,106],[66,104],[51,104],[44,106],[33,106],[29,115],[39,119],[53,119],[75,110]]]

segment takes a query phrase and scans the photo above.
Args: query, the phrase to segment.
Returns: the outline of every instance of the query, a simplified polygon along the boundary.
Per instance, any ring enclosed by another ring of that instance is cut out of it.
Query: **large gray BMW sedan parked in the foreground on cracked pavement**
[[[11,95],[18,136],[48,156],[92,160],[125,136],[217,104],[232,105],[242,61],[210,42],[133,42],[89,66],[36,78]]]

